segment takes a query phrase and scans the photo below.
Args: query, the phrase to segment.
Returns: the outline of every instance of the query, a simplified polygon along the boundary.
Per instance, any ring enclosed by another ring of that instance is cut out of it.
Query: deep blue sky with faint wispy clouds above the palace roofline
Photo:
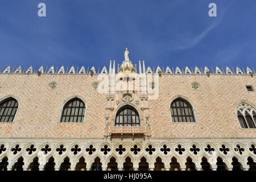
[[[38,16],[38,3],[47,16]],[[217,17],[208,5],[217,4]],[[255,0],[1,0],[0,67],[255,67]]]

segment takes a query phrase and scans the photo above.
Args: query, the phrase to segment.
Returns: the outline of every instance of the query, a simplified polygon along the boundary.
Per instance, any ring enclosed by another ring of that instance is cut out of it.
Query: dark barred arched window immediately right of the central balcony
[[[171,104],[172,122],[195,122],[192,106],[180,98]]]

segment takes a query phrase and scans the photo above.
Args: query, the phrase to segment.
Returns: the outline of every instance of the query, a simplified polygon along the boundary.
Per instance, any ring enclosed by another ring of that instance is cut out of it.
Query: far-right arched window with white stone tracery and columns
[[[237,106],[237,118],[243,129],[256,128],[256,109],[253,106],[241,102]]]

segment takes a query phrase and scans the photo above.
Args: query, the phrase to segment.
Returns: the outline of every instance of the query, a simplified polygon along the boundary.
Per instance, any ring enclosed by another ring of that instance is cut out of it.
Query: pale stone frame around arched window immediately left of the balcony
[[[85,109],[84,109],[84,120],[82,120],[82,122],[60,122],[60,118],[61,118],[61,115],[62,115],[64,106],[65,106],[69,101],[73,100],[74,98],[79,98],[80,100],[82,100],[82,102],[84,102],[84,105],[85,105]],[[84,124],[84,123],[85,123],[85,119],[86,119],[86,114],[87,114],[87,108],[88,108],[88,106],[87,106],[87,104],[86,104],[86,102],[85,102],[85,99],[84,99],[83,97],[78,96],[78,95],[74,95],[74,96],[68,97],[67,99],[65,99],[65,100],[63,101],[63,103],[62,103],[61,106],[60,106],[59,115],[58,115],[58,117],[57,117],[57,121],[56,121],[56,122],[57,122],[57,123],[60,123],[60,124],[63,124],[63,125],[65,125],[65,124],[74,124],[74,123],[76,123],[76,124]]]

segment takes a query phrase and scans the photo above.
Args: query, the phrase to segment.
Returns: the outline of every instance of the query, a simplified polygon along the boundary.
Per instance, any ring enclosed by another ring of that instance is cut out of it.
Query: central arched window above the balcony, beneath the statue
[[[131,106],[121,107],[115,117],[115,126],[139,126],[139,114]]]

